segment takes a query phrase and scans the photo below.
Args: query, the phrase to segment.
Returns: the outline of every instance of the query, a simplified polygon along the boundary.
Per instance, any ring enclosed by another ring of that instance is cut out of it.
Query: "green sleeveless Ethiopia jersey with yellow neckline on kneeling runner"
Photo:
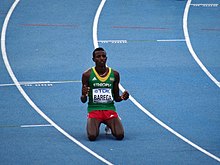
[[[113,110],[114,106],[113,83],[115,75],[111,68],[105,77],[99,76],[95,67],[92,67],[89,77],[89,102],[88,112],[94,110]]]

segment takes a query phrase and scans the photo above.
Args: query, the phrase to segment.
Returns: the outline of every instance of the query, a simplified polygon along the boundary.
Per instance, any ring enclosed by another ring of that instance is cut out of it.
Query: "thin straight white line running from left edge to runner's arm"
[[[66,84],[66,83],[80,83],[81,80],[64,80],[64,81],[23,81],[19,82],[20,85],[35,85],[35,84]],[[16,86],[16,84],[0,84],[0,87]]]

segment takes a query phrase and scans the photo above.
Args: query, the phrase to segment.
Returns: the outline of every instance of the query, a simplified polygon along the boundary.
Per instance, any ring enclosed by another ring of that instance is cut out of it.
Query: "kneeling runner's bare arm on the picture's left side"
[[[87,101],[87,97],[89,94],[89,76],[90,76],[91,70],[87,70],[82,75],[82,95],[80,97],[81,101],[85,103]]]

